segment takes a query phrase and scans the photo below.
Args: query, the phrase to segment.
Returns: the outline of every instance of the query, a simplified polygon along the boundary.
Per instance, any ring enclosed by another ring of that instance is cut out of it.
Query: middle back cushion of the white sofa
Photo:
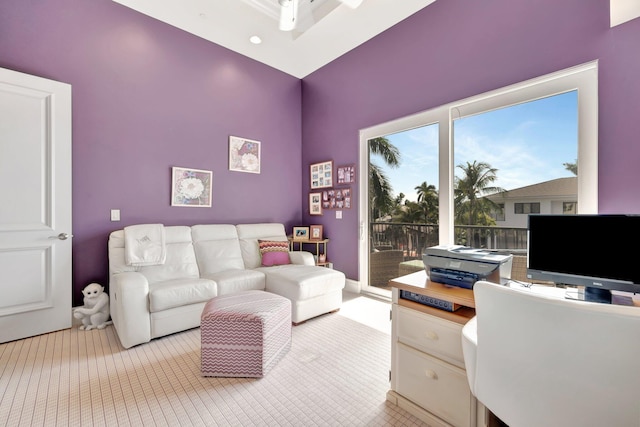
[[[234,225],[194,225],[191,235],[203,277],[221,271],[244,270],[238,232]]]

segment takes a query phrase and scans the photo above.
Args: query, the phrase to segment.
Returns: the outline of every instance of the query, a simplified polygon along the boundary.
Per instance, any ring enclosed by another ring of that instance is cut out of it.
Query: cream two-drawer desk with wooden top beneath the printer
[[[462,326],[475,316],[471,289],[427,280],[424,270],[389,281],[391,388],[387,400],[429,425],[486,427],[488,413],[471,394]],[[450,312],[400,297],[405,290],[462,305]]]

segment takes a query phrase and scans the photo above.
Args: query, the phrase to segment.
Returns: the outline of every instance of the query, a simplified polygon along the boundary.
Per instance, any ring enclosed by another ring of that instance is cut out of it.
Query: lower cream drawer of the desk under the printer
[[[398,343],[396,391],[444,421],[469,427],[475,411],[466,372]]]

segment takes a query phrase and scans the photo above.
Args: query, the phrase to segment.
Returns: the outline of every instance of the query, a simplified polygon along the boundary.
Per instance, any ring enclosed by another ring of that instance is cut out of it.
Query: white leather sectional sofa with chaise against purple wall
[[[344,273],[316,266],[309,252],[287,249],[290,264],[262,266],[258,240],[287,241],[282,224],[168,226],[164,239],[164,263],[132,266],[125,230],[109,236],[111,318],[125,348],[200,326],[204,305],[217,295],[282,295],[291,300],[293,323],[342,304]]]

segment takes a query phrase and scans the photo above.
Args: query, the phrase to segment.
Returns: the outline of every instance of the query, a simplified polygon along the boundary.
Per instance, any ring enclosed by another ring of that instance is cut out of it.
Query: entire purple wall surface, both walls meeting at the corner
[[[0,67],[73,86],[74,305],[106,283],[109,232],[143,222],[323,224],[358,279],[358,206],[309,216],[310,163],[357,164],[359,129],[594,59],[600,211],[640,213],[638,40],[606,0],[437,1],[301,84],[110,0],[0,3]],[[260,175],[227,170],[229,135],[262,141]],[[213,207],[171,207],[171,166],[213,170]]]

